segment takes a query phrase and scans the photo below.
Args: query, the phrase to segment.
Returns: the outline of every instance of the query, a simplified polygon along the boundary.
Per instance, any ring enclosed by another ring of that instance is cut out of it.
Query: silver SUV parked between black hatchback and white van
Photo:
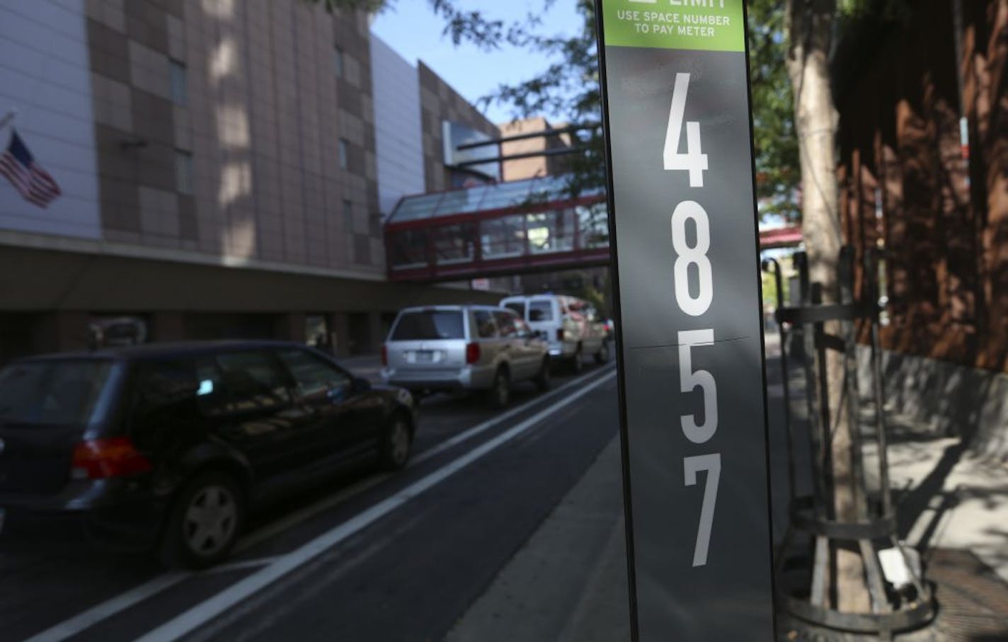
[[[514,312],[488,305],[407,307],[382,348],[382,377],[418,394],[485,390],[495,407],[511,386],[549,387],[546,342]]]

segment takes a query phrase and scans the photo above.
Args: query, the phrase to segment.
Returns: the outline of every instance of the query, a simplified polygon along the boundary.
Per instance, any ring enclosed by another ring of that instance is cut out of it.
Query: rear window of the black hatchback
[[[111,361],[37,361],[0,371],[0,422],[88,424],[112,380]]]

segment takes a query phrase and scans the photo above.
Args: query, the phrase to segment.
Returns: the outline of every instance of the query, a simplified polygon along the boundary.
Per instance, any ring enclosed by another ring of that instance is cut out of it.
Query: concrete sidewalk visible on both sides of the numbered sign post
[[[786,479],[776,337],[767,335],[774,501]],[[792,368],[792,379],[799,379]],[[798,381],[794,381],[798,384]],[[804,409],[801,385],[791,403]],[[889,446],[901,535],[921,552],[938,615],[901,642],[1008,640],[1008,468],[971,458],[955,438],[901,425]],[[619,440],[614,438],[516,552],[446,642],[622,642],[630,639]],[[775,530],[784,510],[774,506]],[[784,640],[870,640],[787,618]]]

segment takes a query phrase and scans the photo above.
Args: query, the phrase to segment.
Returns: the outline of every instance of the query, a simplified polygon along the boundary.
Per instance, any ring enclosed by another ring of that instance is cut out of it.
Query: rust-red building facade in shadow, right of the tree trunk
[[[845,238],[859,264],[885,253],[890,404],[1004,458],[1006,37],[1008,0],[926,0],[853,25],[834,61]]]

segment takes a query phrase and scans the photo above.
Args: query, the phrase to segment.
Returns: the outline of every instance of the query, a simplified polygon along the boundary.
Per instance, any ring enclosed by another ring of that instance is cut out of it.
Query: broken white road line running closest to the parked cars
[[[435,457],[436,455],[439,455],[440,453],[444,453],[445,451],[455,445],[458,445],[459,443],[462,443],[463,441],[470,439],[480,434],[481,432],[485,432],[504,421],[507,421],[511,417],[521,412],[524,412],[533,405],[536,405],[544,400],[548,400],[555,396],[558,396],[560,395],[560,393],[574,386],[584,385],[586,379],[592,378],[592,374],[593,373],[589,373],[587,375],[583,375],[581,377],[578,377],[577,379],[569,381],[559,388],[551,390],[545,395],[541,395],[534,399],[526,401],[520,406],[512,408],[511,410],[508,410],[503,414],[497,415],[492,419],[488,419],[483,423],[479,423],[464,432],[460,432],[459,434],[455,435],[450,439],[442,441],[437,445],[428,448],[427,451],[424,451],[418,456],[412,458],[409,463],[409,468],[418,466],[419,464],[422,464],[423,462],[429,460],[430,458]],[[607,375],[603,375],[599,379],[602,379],[606,376]],[[589,384],[589,385],[594,385],[594,384]],[[364,480],[358,484],[351,486],[350,488],[344,489],[335,496],[323,499],[317,504],[306,506],[305,508],[296,511],[293,514],[288,515],[276,522],[271,522],[270,524],[267,524],[262,528],[252,531],[251,533],[242,538],[242,540],[235,547],[235,550],[236,552],[241,550],[246,550],[249,547],[265,539],[268,539],[269,537],[272,537],[273,535],[276,535],[279,532],[282,532],[283,530],[286,530],[287,528],[318,513],[321,513],[324,510],[332,508],[333,506],[336,506],[346,501],[347,499],[350,499],[351,497],[354,497],[355,495],[362,493],[368,490],[369,488],[372,488],[373,486],[376,486],[377,484],[385,481],[388,477],[389,477],[388,475],[381,475],[369,478],[367,480]],[[235,563],[241,563],[241,562],[235,562]],[[130,589],[129,591],[126,591],[116,596],[115,598],[112,598],[101,604],[98,604],[88,609],[87,611],[83,611],[78,615],[68,620],[65,620],[64,622],[60,622],[59,624],[56,624],[42,631],[41,633],[38,633],[28,638],[27,640],[25,640],[25,642],[58,642],[59,640],[66,640],[67,638],[77,635],[78,633],[81,633],[85,629],[88,629],[94,626],[95,624],[98,624],[102,620],[111,618],[117,613],[124,611],[125,609],[128,609],[133,605],[139,602],[143,602],[147,598],[150,598],[151,596],[154,596],[160,593],[161,591],[173,587],[182,580],[193,576],[193,574],[194,573],[191,572],[167,572],[157,575],[153,580],[150,580],[138,587]]]

